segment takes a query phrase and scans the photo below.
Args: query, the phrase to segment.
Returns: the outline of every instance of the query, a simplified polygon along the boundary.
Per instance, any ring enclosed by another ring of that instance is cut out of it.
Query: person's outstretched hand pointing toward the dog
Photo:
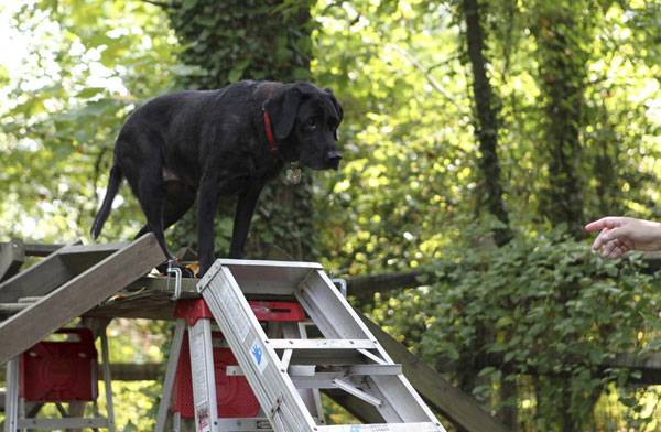
[[[602,230],[593,244],[604,248],[605,258],[619,258],[629,250],[660,250],[661,224],[632,217],[608,216],[585,226],[587,231]]]

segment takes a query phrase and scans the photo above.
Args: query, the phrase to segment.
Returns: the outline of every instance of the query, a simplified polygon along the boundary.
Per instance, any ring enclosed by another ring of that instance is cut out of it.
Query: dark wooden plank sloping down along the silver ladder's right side
[[[393,361],[402,365],[407,379],[432,409],[469,432],[509,431],[507,426],[489,415],[475,399],[454,387],[367,316],[359,312],[358,314]]]

